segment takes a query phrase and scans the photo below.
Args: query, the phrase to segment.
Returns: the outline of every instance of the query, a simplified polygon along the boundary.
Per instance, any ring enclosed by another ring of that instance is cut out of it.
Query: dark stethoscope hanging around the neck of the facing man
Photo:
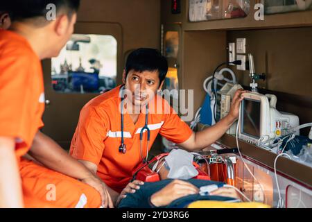
[[[127,151],[127,147],[125,146],[125,142],[123,139],[123,101],[125,100],[125,97],[122,96],[121,98],[121,145],[119,146],[119,153],[125,154]],[[143,142],[143,133],[144,130],[147,132],[147,146],[146,146],[146,158],[143,157],[143,150],[142,150],[142,142]],[[150,144],[150,129],[148,128],[148,104],[146,104],[146,114],[145,114],[145,125],[143,128],[141,128],[140,131],[140,155],[141,159],[144,163],[148,162],[148,148]]]

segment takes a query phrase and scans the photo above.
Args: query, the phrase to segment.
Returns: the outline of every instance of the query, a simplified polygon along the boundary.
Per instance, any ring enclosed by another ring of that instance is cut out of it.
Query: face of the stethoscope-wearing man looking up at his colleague
[[[125,89],[131,92],[132,104],[135,106],[143,106],[149,103],[155,96],[157,89],[162,89],[162,84],[159,85],[158,71],[143,71],[138,72],[130,70],[127,78],[123,73],[123,83]]]

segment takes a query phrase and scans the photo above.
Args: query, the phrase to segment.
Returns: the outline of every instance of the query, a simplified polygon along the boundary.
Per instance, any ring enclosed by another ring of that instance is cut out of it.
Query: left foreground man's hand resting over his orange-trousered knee
[[[114,208],[114,204],[112,202],[112,198],[110,197],[110,194],[108,193],[107,185],[105,185],[104,182],[102,182],[101,179],[94,177],[85,178],[81,180],[85,184],[94,187],[100,193],[101,200],[102,200],[102,207],[104,208]]]

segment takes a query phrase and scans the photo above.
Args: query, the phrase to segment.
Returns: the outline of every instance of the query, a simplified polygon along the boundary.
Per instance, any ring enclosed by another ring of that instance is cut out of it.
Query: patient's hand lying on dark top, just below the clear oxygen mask
[[[166,187],[153,194],[150,197],[150,202],[153,203],[155,207],[163,207],[170,204],[173,200],[192,194],[198,194],[198,192],[198,188],[189,182],[173,180],[173,182],[166,185]]]

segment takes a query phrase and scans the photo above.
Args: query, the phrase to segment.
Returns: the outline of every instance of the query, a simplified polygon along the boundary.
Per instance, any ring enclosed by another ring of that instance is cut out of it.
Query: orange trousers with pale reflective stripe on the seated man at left
[[[21,158],[26,208],[98,208],[101,196],[89,185]]]

